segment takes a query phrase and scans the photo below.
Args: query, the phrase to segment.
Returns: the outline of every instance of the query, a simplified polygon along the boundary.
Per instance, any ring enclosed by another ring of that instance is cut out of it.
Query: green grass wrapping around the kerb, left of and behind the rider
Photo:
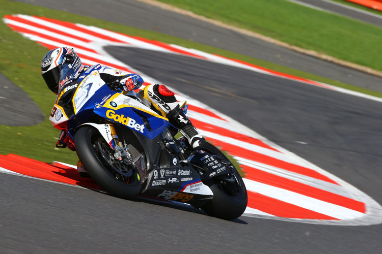
[[[0,0],[0,6],[1,17],[12,14],[26,14],[56,18],[74,23],[95,25],[132,36],[158,40],[165,43],[174,43],[184,47],[195,48],[230,58],[240,59],[275,71],[285,72],[303,78],[358,90],[382,98],[382,93],[358,88],[340,83],[338,81],[314,76],[309,73],[278,66],[256,58],[243,56],[195,42],[189,42],[152,31],[141,30],[120,24],[7,0]],[[59,131],[51,126],[48,120],[48,115],[56,96],[48,90],[40,72],[41,59],[46,52],[46,48],[38,45],[34,41],[25,39],[17,32],[11,30],[5,23],[0,22],[0,72],[28,93],[46,116],[46,119],[42,123],[34,126],[14,127],[0,125],[0,132],[2,134],[2,138],[0,139],[0,153],[15,153],[43,162],[58,160],[65,163],[76,164],[77,156],[75,152],[72,152],[69,149],[57,150],[54,146],[57,142],[57,139],[55,138],[58,137]]]

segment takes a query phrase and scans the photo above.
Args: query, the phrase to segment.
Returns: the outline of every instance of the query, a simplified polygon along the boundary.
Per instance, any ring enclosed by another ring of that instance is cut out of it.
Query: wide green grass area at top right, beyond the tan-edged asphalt
[[[382,71],[382,27],[285,0],[159,1]]]

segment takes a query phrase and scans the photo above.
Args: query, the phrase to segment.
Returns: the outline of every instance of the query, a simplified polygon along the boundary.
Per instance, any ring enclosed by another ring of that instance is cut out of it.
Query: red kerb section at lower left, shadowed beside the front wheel
[[[40,179],[101,189],[93,180],[80,177],[77,170],[61,165],[47,164],[15,154],[0,155],[0,166],[13,172]]]

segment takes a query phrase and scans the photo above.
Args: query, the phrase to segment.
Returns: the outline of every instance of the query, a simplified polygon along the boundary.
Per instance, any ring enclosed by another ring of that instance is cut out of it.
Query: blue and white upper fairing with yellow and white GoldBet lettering
[[[168,119],[143,104],[135,97],[135,92],[111,90],[101,79],[99,68],[101,66],[88,69],[78,78],[72,99],[74,116],[68,122],[68,129],[74,131],[97,114],[150,139],[161,134],[169,125]]]

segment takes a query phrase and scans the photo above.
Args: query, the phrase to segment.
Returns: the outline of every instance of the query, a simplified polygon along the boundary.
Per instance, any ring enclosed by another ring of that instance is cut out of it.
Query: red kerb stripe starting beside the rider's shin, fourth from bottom
[[[267,148],[267,149],[274,150],[274,151],[278,152],[278,150],[268,146],[267,144],[265,144],[261,140],[254,139],[254,138],[251,138],[249,136],[245,136],[245,135],[243,135],[241,133],[237,133],[237,132],[233,132],[233,131],[224,129],[224,128],[218,127],[216,125],[212,125],[212,124],[209,124],[209,123],[206,123],[206,122],[198,121],[198,120],[196,120],[194,118],[190,118],[190,120],[196,126],[196,128],[198,128],[200,130],[216,133],[216,134],[219,134],[219,135],[222,135],[222,136],[225,136],[225,137],[233,138],[233,139],[236,139],[236,140],[240,140],[240,141],[243,141],[243,142],[247,142],[247,143],[250,143],[250,144],[253,144],[253,145],[261,146],[261,147],[264,147],[264,148]]]

